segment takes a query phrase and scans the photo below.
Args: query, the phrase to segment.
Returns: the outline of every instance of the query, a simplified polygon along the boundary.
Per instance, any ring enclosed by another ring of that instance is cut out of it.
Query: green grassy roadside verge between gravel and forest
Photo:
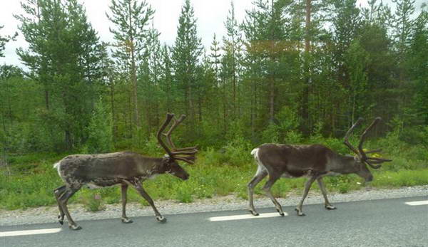
[[[384,142],[382,140],[381,142]],[[335,147],[335,140],[327,140],[327,146]],[[371,143],[377,147],[379,142]],[[247,150],[248,151],[248,150]],[[244,148],[233,146],[225,152],[207,149],[198,154],[195,165],[183,164],[190,174],[188,181],[162,175],[143,183],[153,200],[172,199],[189,203],[195,199],[211,198],[235,194],[247,199],[247,186],[255,173],[256,166]],[[374,181],[372,186],[378,188],[394,188],[399,186],[415,186],[428,184],[428,151],[422,146],[401,145],[394,152],[383,154],[394,162],[383,164],[379,170],[372,170]],[[56,169],[52,164],[66,154],[26,154],[9,158],[9,165],[0,167],[0,209],[26,209],[36,206],[56,204],[53,190],[61,186]],[[266,180],[266,179],[265,179]],[[362,179],[356,175],[326,177],[328,191],[347,193],[362,188]],[[272,194],[285,197],[292,190],[300,193],[305,179],[280,179],[272,187]],[[255,194],[264,194],[261,187],[255,188]],[[317,185],[312,185],[317,190]],[[86,206],[88,211],[103,209],[105,204],[116,204],[121,200],[121,189],[111,187],[105,189],[81,189],[70,200]],[[128,192],[128,201],[148,205],[133,189]]]

